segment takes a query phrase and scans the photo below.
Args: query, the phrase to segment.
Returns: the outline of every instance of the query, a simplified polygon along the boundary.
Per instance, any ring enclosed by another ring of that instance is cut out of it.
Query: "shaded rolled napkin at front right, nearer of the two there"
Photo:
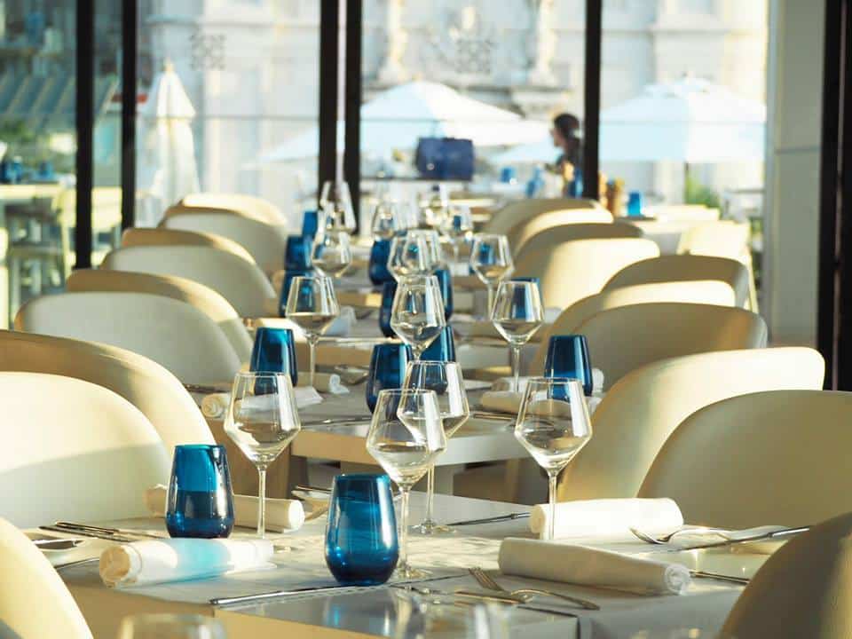
[[[690,572],[680,564],[554,541],[509,537],[498,564],[508,575],[649,595],[681,595],[690,585]]]

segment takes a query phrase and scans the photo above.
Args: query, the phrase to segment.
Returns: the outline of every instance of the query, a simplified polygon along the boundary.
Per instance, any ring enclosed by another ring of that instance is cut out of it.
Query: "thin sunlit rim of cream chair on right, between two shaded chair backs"
[[[735,297],[730,285],[717,280],[637,284],[636,286],[604,290],[597,295],[584,297],[566,308],[541,336],[540,347],[536,351],[530,366],[530,374],[541,375],[544,370],[550,335],[575,334],[579,331],[583,322],[602,311],[608,311],[619,306],[658,302],[733,306]]]

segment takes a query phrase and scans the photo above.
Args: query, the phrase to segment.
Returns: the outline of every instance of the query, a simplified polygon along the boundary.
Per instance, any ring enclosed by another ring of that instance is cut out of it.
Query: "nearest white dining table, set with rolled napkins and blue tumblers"
[[[141,499],[141,496],[140,496]],[[425,495],[413,493],[412,521],[423,516]],[[75,597],[95,637],[112,638],[125,615],[141,612],[193,613],[220,619],[228,636],[253,637],[418,637],[465,636],[454,626],[467,604],[485,603],[458,596],[456,590],[488,596],[469,569],[479,567],[501,587],[544,588],[580,597],[598,610],[586,610],[548,596],[525,604],[490,604],[504,620],[509,636],[529,639],[711,637],[737,600],[743,585],[720,579],[693,579],[682,595],[651,596],[611,588],[503,575],[498,552],[506,537],[532,537],[529,506],[436,496],[436,517],[444,523],[503,517],[499,521],[455,525],[454,533],[409,537],[409,559],[429,574],[422,580],[390,582],[374,587],[340,587],[324,559],[326,514],[321,502],[306,505],[307,520],[297,531],[273,534],[280,548],[273,566],[255,572],[233,572],[203,580],[107,588],[96,561],[112,541],[86,540],[72,550],[54,551],[51,561]],[[514,515],[513,515],[514,514]],[[162,519],[100,522],[122,531],[166,536]],[[51,533],[56,534],[56,533]],[[250,538],[253,531],[234,529],[232,537]],[[767,556],[734,547],[677,552],[667,545],[641,540],[572,540],[572,543],[617,550],[682,563],[690,568],[751,576]],[[83,563],[75,563],[83,561]],[[62,565],[65,564],[65,567]],[[708,567],[709,566],[709,567]],[[456,619],[454,621],[454,619]],[[427,632],[428,631],[428,632]]]

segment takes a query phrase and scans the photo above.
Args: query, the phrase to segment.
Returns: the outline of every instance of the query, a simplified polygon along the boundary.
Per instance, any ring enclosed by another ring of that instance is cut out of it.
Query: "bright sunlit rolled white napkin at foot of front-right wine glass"
[[[550,507],[534,506],[530,530],[547,529]],[[670,499],[603,499],[562,501],[556,504],[556,539],[594,537],[596,540],[633,540],[630,528],[651,536],[671,533],[683,525],[681,509]]]

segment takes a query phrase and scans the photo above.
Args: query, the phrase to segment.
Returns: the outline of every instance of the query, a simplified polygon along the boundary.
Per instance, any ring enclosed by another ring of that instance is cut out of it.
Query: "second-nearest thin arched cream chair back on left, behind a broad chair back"
[[[225,297],[193,280],[151,273],[79,269],[71,273],[66,282],[66,290],[69,293],[85,291],[150,293],[180,300],[194,306],[216,322],[241,362],[248,362],[251,357],[251,337],[240,315]]]

